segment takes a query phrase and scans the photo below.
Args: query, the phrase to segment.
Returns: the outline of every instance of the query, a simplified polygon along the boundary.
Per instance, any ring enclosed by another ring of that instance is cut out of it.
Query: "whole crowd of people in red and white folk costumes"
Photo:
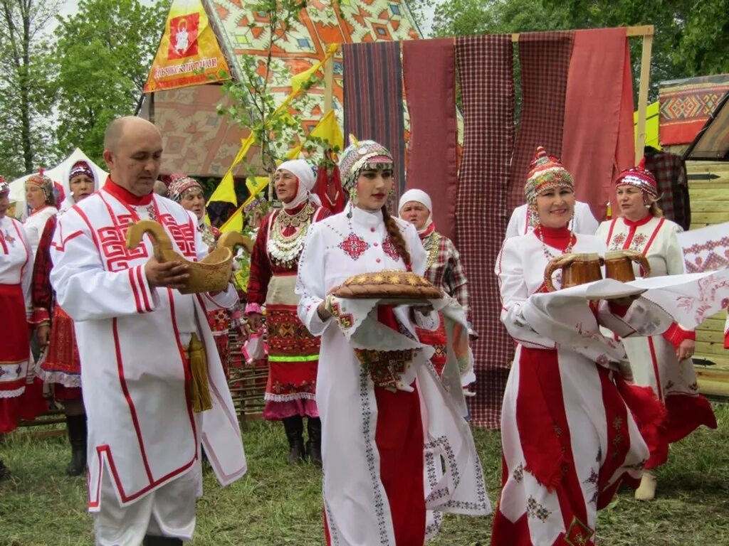
[[[394,203],[388,149],[353,138],[340,154],[348,202],[337,213],[313,192],[310,163],[278,166],[281,207],[246,211],[256,231],[242,301],[233,284],[187,289],[192,264],[220,233],[206,222],[198,181],[157,183],[159,130],[115,119],[104,148],[109,178],[77,162],[60,207],[50,178],[29,177],[25,223],[7,215],[0,181],[0,434],[46,411],[50,393],[66,416],[66,472],[87,472],[96,544],[190,540],[203,451],[220,483],[245,474],[225,368],[231,330],[265,339],[263,418],[283,422],[289,464],[321,467],[327,545],[422,545],[443,513],[491,513],[468,424],[477,339],[468,258],[437,232],[424,191]],[[622,483],[652,499],[668,443],[717,426],[681,317],[637,295],[580,301],[579,331],[534,312],[547,265],[564,254],[630,249],[653,276],[685,272],[680,228],[663,218],[649,171],[620,173],[620,214],[603,223],[574,186],[559,159],[537,149],[526,205],[514,210],[495,264],[515,354],[494,545],[594,544],[596,513]],[[162,226],[179,259],[162,261],[152,237],[125,247],[144,220]],[[353,276],[397,272],[426,278],[443,296],[335,294]],[[9,473],[0,462],[0,478]]]

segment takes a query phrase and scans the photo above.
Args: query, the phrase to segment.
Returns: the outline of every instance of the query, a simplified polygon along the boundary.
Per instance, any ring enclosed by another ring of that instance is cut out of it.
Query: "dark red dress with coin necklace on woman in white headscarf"
[[[327,218],[328,209],[309,201],[292,210],[273,210],[261,223],[251,255],[246,314],[266,309],[268,383],[264,419],[295,415],[319,417],[316,372],[319,338],[296,314],[294,293],[298,262],[311,223]]]

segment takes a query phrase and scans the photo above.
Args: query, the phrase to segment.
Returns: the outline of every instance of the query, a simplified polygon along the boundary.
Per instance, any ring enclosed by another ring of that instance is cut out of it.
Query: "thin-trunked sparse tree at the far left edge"
[[[0,0],[0,173],[14,178],[52,159],[55,91],[44,28],[58,4]]]

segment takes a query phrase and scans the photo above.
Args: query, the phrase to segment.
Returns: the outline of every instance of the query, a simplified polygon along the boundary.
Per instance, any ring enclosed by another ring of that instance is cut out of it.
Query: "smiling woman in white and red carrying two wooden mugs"
[[[527,320],[534,317],[527,314],[533,299],[547,291],[550,260],[564,253],[604,253],[605,245],[568,228],[572,175],[541,147],[525,194],[537,226],[504,241],[496,261],[502,323],[518,345],[502,408],[504,486],[491,544],[594,545],[597,510],[621,481],[637,483],[650,454],[646,438],[662,415],[648,389],[626,383],[625,350],[601,336],[599,325],[625,336],[655,331],[653,308],[631,298],[578,303],[574,320],[580,328],[566,325],[574,338],[570,344],[558,344],[553,329]]]

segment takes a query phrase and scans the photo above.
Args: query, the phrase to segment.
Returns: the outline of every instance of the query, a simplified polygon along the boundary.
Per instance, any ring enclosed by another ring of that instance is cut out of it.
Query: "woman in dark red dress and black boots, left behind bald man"
[[[74,163],[69,171],[68,197],[61,212],[51,216],[43,229],[33,267],[33,322],[37,325],[38,342],[47,347],[38,376],[53,385],[53,397],[63,405],[66,430],[71,444],[71,462],[66,475],[77,476],[86,470],[86,413],[81,393],[81,363],[74,335],[74,321],[60,305],[50,285],[53,267],[50,245],[58,216],[85,199],[96,189],[93,169],[85,161]]]

